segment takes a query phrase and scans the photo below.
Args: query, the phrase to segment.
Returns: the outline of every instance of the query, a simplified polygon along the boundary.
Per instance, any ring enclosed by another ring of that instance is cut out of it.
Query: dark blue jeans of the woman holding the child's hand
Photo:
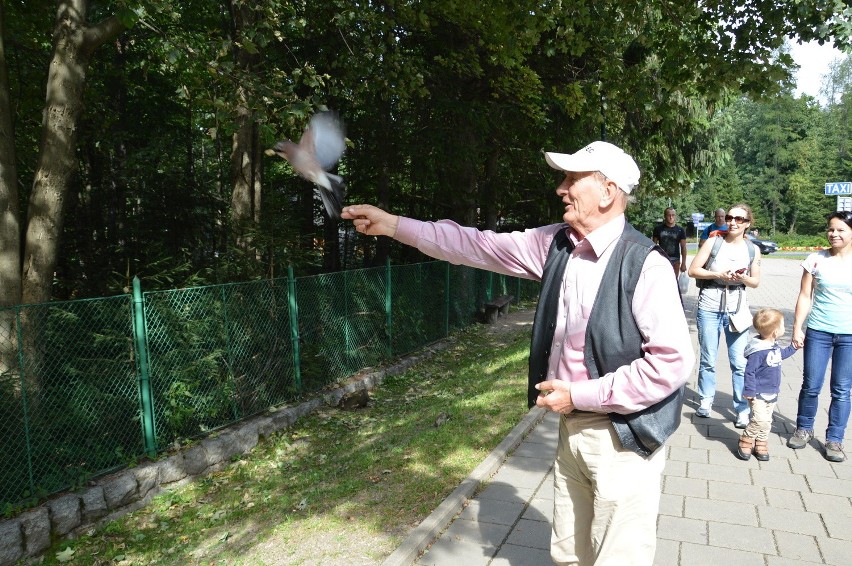
[[[849,421],[849,390],[852,389],[852,334],[833,334],[820,330],[805,331],[805,371],[799,392],[796,428],[814,429],[819,392],[825,382],[825,370],[831,359],[831,403],[825,440],[843,442]]]

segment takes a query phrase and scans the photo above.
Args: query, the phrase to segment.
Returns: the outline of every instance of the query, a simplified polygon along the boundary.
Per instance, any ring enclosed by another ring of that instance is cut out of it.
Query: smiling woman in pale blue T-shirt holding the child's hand
[[[852,212],[828,215],[829,249],[810,254],[802,264],[802,285],[793,319],[793,343],[804,344],[804,375],[796,431],[787,446],[804,448],[814,437],[819,392],[831,359],[831,403],[825,431],[825,458],[846,459],[843,435],[849,421],[852,389]],[[807,318],[807,330],[802,325]]]

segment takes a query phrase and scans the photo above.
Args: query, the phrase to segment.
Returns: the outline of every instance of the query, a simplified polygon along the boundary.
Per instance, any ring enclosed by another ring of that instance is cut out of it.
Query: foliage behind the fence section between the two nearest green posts
[[[285,280],[146,294],[160,447],[298,394],[287,304]]]

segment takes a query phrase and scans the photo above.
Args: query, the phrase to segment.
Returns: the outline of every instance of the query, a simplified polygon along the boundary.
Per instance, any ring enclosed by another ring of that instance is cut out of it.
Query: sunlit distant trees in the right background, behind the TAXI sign
[[[821,234],[825,216],[837,205],[835,197],[824,195],[825,183],[852,179],[849,96],[837,96],[852,84],[846,78],[849,64],[848,57],[835,63],[826,78],[825,106],[785,91],[761,100],[739,98],[726,107],[717,119],[731,158],[696,183],[700,210],[709,214],[744,201],[761,234]]]

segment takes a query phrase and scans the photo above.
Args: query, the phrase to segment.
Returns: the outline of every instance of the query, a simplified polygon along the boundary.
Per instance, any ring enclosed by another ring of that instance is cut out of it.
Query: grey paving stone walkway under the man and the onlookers
[[[775,307],[784,312],[784,344],[790,339],[800,263],[764,257],[761,285],[749,291],[753,310]],[[696,300],[693,281],[684,309],[697,351]],[[503,323],[528,324],[531,318],[532,313],[519,312]],[[666,448],[656,565],[852,564],[852,462],[831,463],[822,452],[828,422],[827,384],[820,397],[817,438],[802,450],[785,446],[795,429],[802,358],[798,352],[783,364],[768,462],[754,458],[743,462],[735,456],[740,431],[732,422],[725,348],[720,348],[718,391],[708,419],[695,417],[697,372],[693,372],[682,424]],[[385,564],[551,564],[548,549],[557,426],[557,415],[530,411],[489,456],[493,463],[489,466],[487,460],[475,472],[490,475],[496,470],[490,480],[483,483],[486,478],[472,477],[465,482],[443,509],[424,521],[419,538],[409,537]],[[482,489],[473,494],[471,486]],[[424,540],[433,542],[417,558],[418,545],[425,544],[418,541]]]

